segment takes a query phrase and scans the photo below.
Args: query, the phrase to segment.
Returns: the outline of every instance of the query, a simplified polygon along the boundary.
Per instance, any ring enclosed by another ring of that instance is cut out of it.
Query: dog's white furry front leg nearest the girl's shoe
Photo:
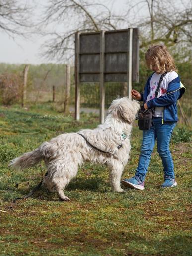
[[[118,161],[114,161],[114,160],[112,161],[113,161],[113,163],[111,163],[112,165],[109,166],[110,182],[112,184],[114,191],[122,192],[123,189],[120,186],[120,181],[121,181],[122,173],[124,170],[124,166]]]

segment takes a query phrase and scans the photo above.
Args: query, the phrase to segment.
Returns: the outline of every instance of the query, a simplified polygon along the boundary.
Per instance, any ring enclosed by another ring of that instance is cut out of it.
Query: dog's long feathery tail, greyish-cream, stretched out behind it
[[[45,157],[45,155],[47,155],[50,145],[51,143],[46,141],[35,150],[12,159],[8,166],[19,170],[36,165]]]

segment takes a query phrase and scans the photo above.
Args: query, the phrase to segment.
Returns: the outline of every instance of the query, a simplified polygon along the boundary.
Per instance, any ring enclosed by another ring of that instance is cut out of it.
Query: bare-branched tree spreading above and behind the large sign
[[[74,55],[77,31],[139,27],[141,48],[152,43],[173,46],[192,42],[191,0],[128,0],[127,8],[118,15],[96,0],[50,0],[44,13],[41,25],[54,23],[56,27],[48,33],[52,39],[44,45],[46,57],[57,60]]]

